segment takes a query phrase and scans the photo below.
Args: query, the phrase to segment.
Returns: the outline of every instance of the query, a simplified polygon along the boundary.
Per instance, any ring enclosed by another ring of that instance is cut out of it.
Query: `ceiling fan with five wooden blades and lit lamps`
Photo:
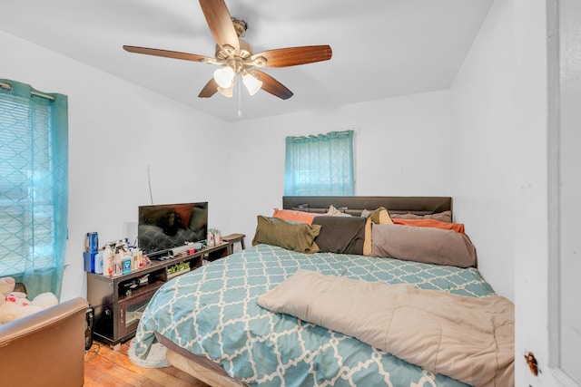
[[[251,95],[262,89],[282,100],[287,100],[291,98],[292,92],[271,75],[256,70],[255,67],[289,67],[330,60],[332,51],[329,45],[287,47],[253,53],[251,45],[241,39],[246,32],[246,22],[232,18],[224,0],[200,0],[200,5],[216,41],[214,58],[133,45],[123,45],[123,49],[130,53],[145,53],[222,66],[202,88],[198,95],[200,98],[210,98],[216,92],[231,97],[236,76],[239,75]]]

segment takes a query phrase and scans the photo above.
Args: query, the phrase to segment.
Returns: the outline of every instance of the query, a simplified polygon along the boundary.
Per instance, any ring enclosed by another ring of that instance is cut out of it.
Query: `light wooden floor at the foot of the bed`
[[[129,342],[114,350],[107,344],[94,342],[84,359],[84,387],[160,386],[207,387],[175,367],[142,368],[127,356]]]

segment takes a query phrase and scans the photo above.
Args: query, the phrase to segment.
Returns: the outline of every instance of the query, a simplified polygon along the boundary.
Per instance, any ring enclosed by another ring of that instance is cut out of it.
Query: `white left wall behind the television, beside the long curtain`
[[[86,295],[84,234],[125,237],[137,207],[151,204],[148,166],[155,203],[209,200],[211,227],[233,232],[225,179],[207,173],[210,160],[213,170],[228,165],[224,121],[2,32],[0,46],[3,78],[68,95],[70,265],[62,300]]]

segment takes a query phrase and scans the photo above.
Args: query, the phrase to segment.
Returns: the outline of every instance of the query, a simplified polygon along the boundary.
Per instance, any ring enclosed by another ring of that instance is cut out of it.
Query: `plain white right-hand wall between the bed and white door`
[[[514,300],[512,28],[511,2],[495,2],[451,88],[451,144],[456,214],[477,247],[482,275]]]

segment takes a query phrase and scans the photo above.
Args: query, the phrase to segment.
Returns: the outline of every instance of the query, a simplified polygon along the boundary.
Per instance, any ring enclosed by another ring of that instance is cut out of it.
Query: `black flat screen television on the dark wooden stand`
[[[208,202],[139,206],[137,247],[163,256],[174,247],[201,242],[208,235]]]

